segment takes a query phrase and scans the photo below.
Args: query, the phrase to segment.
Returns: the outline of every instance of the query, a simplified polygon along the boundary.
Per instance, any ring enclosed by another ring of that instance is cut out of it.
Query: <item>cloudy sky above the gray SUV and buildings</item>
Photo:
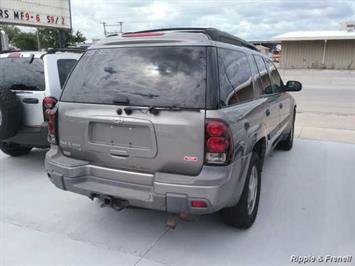
[[[100,22],[123,21],[123,31],[214,27],[248,41],[289,31],[338,30],[355,20],[355,0],[71,0],[73,29],[91,41]],[[118,31],[119,26],[108,27]]]

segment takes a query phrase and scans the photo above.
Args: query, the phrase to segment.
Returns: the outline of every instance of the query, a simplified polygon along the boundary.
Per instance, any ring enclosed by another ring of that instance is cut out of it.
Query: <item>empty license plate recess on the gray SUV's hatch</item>
[[[117,147],[152,149],[152,132],[145,125],[90,123],[89,139],[92,143]]]

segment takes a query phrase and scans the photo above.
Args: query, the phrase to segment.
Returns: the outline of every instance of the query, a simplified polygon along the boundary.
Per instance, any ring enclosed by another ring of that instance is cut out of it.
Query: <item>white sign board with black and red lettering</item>
[[[0,0],[0,24],[71,29],[70,0]]]

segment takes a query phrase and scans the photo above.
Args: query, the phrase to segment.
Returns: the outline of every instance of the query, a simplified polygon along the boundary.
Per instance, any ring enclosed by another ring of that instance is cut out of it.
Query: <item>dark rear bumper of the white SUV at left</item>
[[[44,122],[39,127],[22,127],[15,136],[7,141],[36,148],[48,148],[47,136],[48,124]]]

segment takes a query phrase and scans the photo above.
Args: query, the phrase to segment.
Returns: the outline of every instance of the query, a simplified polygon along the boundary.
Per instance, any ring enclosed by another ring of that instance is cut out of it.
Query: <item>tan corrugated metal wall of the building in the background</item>
[[[324,41],[286,41],[281,45],[281,68],[355,69],[355,40],[327,41],[325,65]]]

